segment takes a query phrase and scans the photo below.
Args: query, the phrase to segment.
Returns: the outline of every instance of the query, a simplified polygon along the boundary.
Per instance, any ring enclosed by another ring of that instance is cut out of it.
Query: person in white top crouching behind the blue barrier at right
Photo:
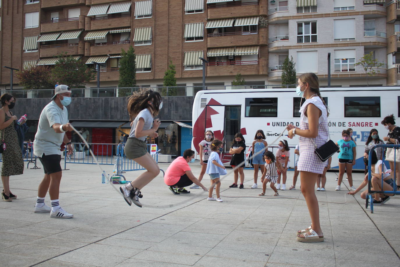
[[[369,151],[368,151],[369,153]],[[382,169],[383,168],[383,169]],[[383,176],[382,176],[383,174]],[[375,151],[372,151],[371,155],[371,187],[373,191],[393,191],[393,178],[390,176],[390,172],[386,169],[386,166],[382,164],[382,160],[377,159]],[[382,177],[383,189],[382,189]],[[350,191],[348,194],[356,195],[358,191],[361,191],[366,185],[368,185],[368,173],[365,175],[364,181],[356,189],[356,191]],[[361,198],[365,199],[368,195],[368,189],[361,193]],[[394,194],[374,194],[374,204],[384,204]]]

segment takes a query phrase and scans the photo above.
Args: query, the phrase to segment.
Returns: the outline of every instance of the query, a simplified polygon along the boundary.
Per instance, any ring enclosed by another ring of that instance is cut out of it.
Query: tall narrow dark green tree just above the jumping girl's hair
[[[132,46],[128,51],[122,49],[119,71],[118,87],[136,87],[136,54]],[[128,96],[129,94],[129,88],[118,89],[118,96]]]

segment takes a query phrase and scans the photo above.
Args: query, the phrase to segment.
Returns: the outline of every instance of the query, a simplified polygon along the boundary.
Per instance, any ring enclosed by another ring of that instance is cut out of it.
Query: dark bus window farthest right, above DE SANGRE
[[[344,98],[345,117],[380,117],[379,96],[355,96]]]

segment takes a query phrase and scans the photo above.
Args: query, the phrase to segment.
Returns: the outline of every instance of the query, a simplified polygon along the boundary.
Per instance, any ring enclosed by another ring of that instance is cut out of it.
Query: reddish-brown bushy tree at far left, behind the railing
[[[52,81],[50,68],[47,66],[33,66],[16,73],[20,85],[26,90],[53,89],[55,82]]]

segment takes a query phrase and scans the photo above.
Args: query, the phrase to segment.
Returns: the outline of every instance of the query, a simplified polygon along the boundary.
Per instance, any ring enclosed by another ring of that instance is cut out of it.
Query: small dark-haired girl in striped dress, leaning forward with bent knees
[[[274,190],[274,196],[279,196],[278,190],[275,187],[275,183],[278,180],[278,170],[282,172],[282,165],[279,161],[276,161],[274,153],[271,151],[266,151],[264,153],[265,160],[265,169],[262,173],[261,181],[262,181],[262,193],[258,194],[259,196],[265,195],[265,190],[267,188],[267,183],[270,183],[270,187]],[[264,178],[265,177],[265,178]]]

